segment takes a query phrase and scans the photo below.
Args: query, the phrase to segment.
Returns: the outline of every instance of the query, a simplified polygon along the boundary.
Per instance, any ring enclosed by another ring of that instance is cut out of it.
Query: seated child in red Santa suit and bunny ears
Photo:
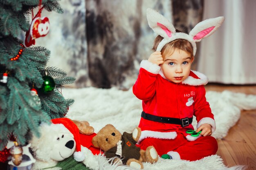
[[[194,161],[216,154],[216,125],[204,86],[208,79],[191,71],[196,52],[195,42],[211,35],[224,17],[198,23],[188,34],[175,31],[173,25],[153,9],[147,9],[149,26],[159,35],[148,60],[141,61],[133,93],[142,100],[143,112],[139,127],[138,146],[154,146],[167,159]],[[193,130],[193,115],[198,124],[197,137],[186,133]],[[167,154],[167,155],[166,155]]]

